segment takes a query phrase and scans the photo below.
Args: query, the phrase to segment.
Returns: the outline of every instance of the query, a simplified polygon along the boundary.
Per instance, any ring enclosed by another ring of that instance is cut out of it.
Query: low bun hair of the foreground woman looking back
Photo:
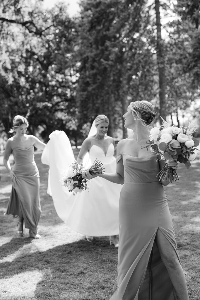
[[[151,124],[157,115],[157,112],[154,112],[153,105],[145,100],[131,102],[129,107],[132,111],[133,117],[136,120],[141,121],[144,126]],[[137,112],[140,113],[141,118]]]

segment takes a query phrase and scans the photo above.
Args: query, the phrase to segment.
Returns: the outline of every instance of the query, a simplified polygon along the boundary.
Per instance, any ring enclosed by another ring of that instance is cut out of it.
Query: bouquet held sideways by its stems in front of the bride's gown
[[[97,159],[94,161],[93,165],[90,167],[89,172],[91,175],[103,174],[104,167],[103,164]],[[64,172],[64,176],[61,179],[62,185],[68,188],[69,192],[76,193],[82,192],[82,190],[88,190],[87,179],[82,178],[82,173],[87,169],[75,161],[69,165],[69,169]]]

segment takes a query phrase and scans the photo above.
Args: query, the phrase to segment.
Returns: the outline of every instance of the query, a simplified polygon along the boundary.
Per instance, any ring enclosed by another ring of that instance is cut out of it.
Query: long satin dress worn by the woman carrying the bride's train
[[[5,214],[23,215],[25,228],[31,235],[37,234],[40,219],[40,176],[34,161],[34,147],[27,149],[13,148],[14,165],[12,171],[13,186]]]

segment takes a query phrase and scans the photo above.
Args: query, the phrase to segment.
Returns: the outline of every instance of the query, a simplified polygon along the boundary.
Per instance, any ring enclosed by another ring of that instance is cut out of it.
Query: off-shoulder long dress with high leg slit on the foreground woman
[[[120,159],[125,182],[119,199],[118,289],[110,300],[178,299],[154,242],[160,229],[178,256],[166,193],[156,177],[157,156],[123,153]],[[139,289],[148,289],[148,298],[139,298]]]

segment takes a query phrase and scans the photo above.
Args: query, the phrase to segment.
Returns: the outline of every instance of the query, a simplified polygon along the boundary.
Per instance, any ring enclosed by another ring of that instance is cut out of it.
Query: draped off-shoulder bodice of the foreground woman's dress
[[[157,173],[160,171],[157,156],[153,153],[145,157],[134,157],[122,153],[116,161],[123,159],[124,182],[155,182]]]

